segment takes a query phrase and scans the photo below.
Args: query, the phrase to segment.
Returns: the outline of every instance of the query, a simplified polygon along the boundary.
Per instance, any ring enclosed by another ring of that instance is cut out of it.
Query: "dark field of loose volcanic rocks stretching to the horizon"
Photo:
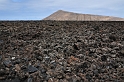
[[[124,22],[0,21],[0,82],[124,82]]]

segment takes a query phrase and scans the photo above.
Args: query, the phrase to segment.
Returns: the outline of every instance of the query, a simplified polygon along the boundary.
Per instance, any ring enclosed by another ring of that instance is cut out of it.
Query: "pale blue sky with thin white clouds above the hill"
[[[124,0],[0,0],[0,20],[42,20],[58,10],[124,18]]]

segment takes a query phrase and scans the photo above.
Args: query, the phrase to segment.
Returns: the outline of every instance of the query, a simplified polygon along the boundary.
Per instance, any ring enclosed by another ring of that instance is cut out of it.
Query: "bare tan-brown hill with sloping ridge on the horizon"
[[[102,15],[92,15],[92,14],[79,14],[79,13],[58,10],[57,12],[51,14],[50,16],[44,18],[43,20],[124,21],[124,18],[112,17],[112,16],[102,16]]]

